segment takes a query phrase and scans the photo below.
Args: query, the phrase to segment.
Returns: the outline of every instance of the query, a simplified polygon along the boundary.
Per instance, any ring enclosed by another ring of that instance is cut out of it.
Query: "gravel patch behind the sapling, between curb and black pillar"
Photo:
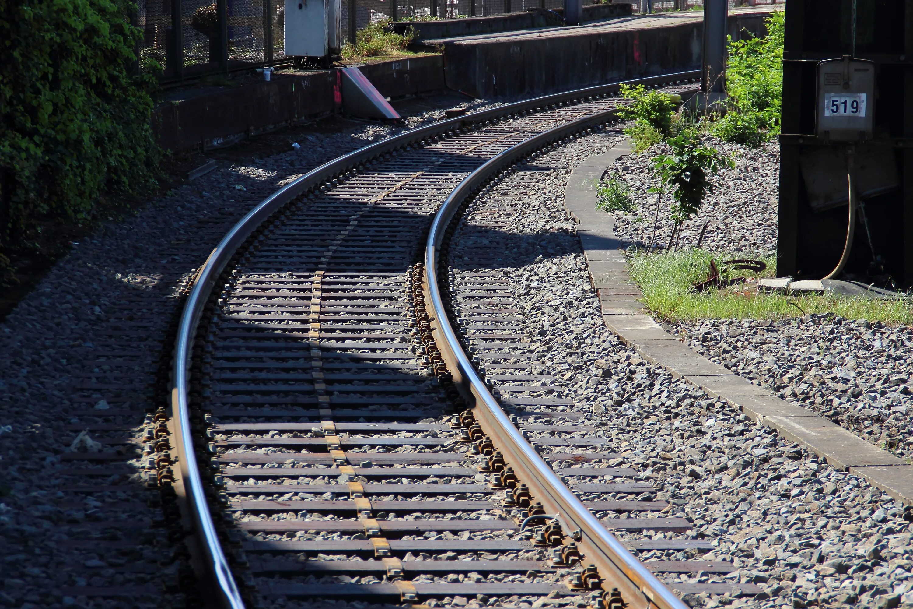
[[[709,221],[701,247],[717,252],[771,253],[777,248],[777,205],[780,184],[780,150],[773,143],[753,149],[721,142],[709,136],[709,145],[728,154],[735,169],[725,169],[714,179],[717,188],[709,194],[703,211],[682,226],[679,247],[698,242],[701,227]],[[630,154],[609,168],[608,176],[621,177],[632,192],[637,210],[631,214],[615,213],[615,235],[646,247],[653,234],[656,217],[656,194],[647,189],[658,185],[650,169],[655,154],[667,152],[666,144],[657,144],[641,154]],[[659,209],[656,244],[666,246],[672,232],[669,204],[664,194]]]

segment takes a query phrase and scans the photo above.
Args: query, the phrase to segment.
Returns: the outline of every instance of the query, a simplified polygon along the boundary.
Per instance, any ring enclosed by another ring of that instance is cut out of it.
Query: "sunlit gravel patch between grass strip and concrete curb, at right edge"
[[[783,399],[913,457],[913,335],[866,320],[701,320],[666,326],[691,347]]]

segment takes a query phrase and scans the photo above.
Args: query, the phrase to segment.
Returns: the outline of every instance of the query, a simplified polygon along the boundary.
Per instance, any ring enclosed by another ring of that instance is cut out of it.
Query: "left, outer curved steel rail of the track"
[[[184,495],[190,510],[189,517],[192,520],[194,527],[194,538],[197,544],[199,560],[203,562],[203,567],[207,571],[206,574],[214,588],[210,592],[211,598],[215,599],[215,604],[220,607],[230,607],[231,609],[243,609],[245,606],[241,593],[235,583],[234,576],[228,566],[226,555],[222,551],[222,546],[216,534],[212,514],[210,514],[206,502],[203,480],[196,463],[190,422],[190,364],[196,327],[204,313],[206,301],[212,294],[219,275],[225,269],[229,259],[234,256],[236,249],[243,245],[247,237],[251,236],[258,226],[268,220],[271,215],[280,211],[285,205],[288,205],[298,198],[299,195],[304,194],[313,188],[320,188],[323,190],[334,184],[338,184],[340,180],[344,180],[347,177],[347,174],[351,175],[352,172],[361,170],[363,163],[371,163],[389,152],[408,149],[415,145],[429,142],[435,137],[440,137],[442,135],[446,136],[447,134],[452,134],[454,131],[467,128],[477,128],[480,125],[490,124],[491,121],[504,121],[519,112],[545,110],[550,106],[564,105],[567,103],[575,103],[614,95],[622,84],[658,86],[697,79],[699,76],[699,70],[679,72],[676,74],[629,80],[588,89],[577,89],[567,93],[557,93],[536,98],[534,100],[506,104],[490,110],[481,110],[456,119],[440,121],[431,125],[426,125],[425,127],[419,127],[412,131],[406,131],[383,140],[382,142],[376,142],[355,152],[343,155],[329,163],[320,165],[320,167],[302,175],[276,193],[268,196],[267,199],[248,212],[247,215],[232,227],[209,257],[206,258],[205,264],[200,269],[199,275],[196,278],[194,287],[191,289],[184,304],[184,311],[178,326],[177,339],[174,347],[173,390],[171,400],[171,418],[175,428],[175,451],[177,452],[181,469]],[[577,127],[580,128],[582,122],[586,121],[592,122],[592,118],[574,121],[569,123],[569,125],[565,125],[557,130],[547,131],[546,133],[553,134],[561,130],[563,130],[563,132],[573,132],[573,130],[568,131],[570,125],[577,125]],[[587,122],[587,124],[589,124],[589,122]],[[542,136],[546,133],[540,134],[528,142],[541,142],[543,141]],[[520,144],[511,150],[516,152],[524,145],[525,144]],[[528,148],[524,147],[523,149],[527,150]],[[500,159],[499,162],[503,162],[507,157],[502,153],[496,158]],[[492,159],[492,161],[494,161],[494,159]],[[488,163],[484,166],[491,167]],[[479,170],[473,173],[473,175],[480,175],[478,171]],[[477,180],[477,178],[474,179]],[[469,178],[467,178],[467,180],[469,180]],[[466,184],[466,182],[460,186],[462,187],[464,184]],[[457,190],[465,196],[467,190],[461,187],[457,188]],[[453,195],[447,199],[448,202],[452,202],[453,200],[456,200]],[[450,214],[452,215],[453,210],[456,209],[456,207],[450,205],[447,209],[450,210]],[[438,215],[438,217],[443,216]],[[436,222],[436,226],[438,225],[439,223]],[[446,320],[446,317],[443,319]],[[449,328],[449,325],[447,327]],[[452,329],[450,331],[452,333]],[[479,383],[481,383],[481,381],[479,381]],[[492,404],[497,406],[497,403],[494,403],[493,398],[491,399]],[[509,422],[508,425],[510,425]],[[552,476],[554,475],[552,474]],[[612,537],[611,535],[608,535],[608,533],[605,533],[605,535],[609,538]],[[614,538],[612,539],[614,540]],[[617,541],[614,543],[617,544]],[[633,557],[631,558],[634,560]],[[643,567],[641,568],[643,569]],[[677,609],[684,607],[684,605],[661,606],[675,606]]]

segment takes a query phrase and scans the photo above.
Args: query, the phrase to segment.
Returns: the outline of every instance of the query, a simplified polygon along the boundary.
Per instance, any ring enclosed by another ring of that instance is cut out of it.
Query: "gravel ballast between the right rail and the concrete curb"
[[[726,578],[698,573],[679,579],[738,578],[763,590],[755,598],[687,595],[689,604],[913,606],[910,512],[862,479],[641,361],[606,329],[574,226],[562,208],[562,191],[573,166],[617,139],[573,142],[479,197],[468,217],[487,226],[464,224],[459,247],[451,250],[456,283],[492,269],[509,279],[512,296],[504,302],[523,313],[517,331],[523,338],[517,342],[537,354],[534,373],[557,377],[545,383],[549,389],[541,395],[571,398],[570,410],[583,415],[556,423],[601,427],[624,462],[655,485],[656,499],[672,504],[664,515],[687,517],[694,524],[690,535],[717,541],[704,558],[740,568]],[[769,158],[769,152],[763,154]],[[557,169],[545,170],[548,166]],[[745,200],[771,205],[748,194]],[[493,230],[495,220],[506,226]],[[772,238],[770,229],[765,243]],[[753,247],[751,239],[747,245]],[[508,382],[489,383],[497,388]],[[666,551],[641,558],[693,556]]]

